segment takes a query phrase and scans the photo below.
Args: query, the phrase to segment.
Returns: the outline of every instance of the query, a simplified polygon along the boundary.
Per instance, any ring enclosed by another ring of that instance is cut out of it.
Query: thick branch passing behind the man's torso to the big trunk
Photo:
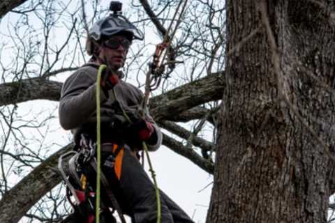
[[[157,120],[173,120],[176,118],[173,114],[184,112],[206,102],[220,100],[223,91],[223,84],[221,84],[223,73],[219,72],[208,75],[202,79],[172,89],[163,95],[151,98],[151,115]],[[37,99],[58,101],[61,86],[62,83],[60,82],[40,78],[0,84],[0,106]],[[20,94],[17,96],[19,89]]]

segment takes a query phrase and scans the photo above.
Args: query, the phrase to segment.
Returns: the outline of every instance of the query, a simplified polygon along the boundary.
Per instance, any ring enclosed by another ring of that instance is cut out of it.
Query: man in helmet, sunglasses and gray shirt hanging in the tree
[[[157,150],[162,134],[149,113],[143,111],[141,91],[122,81],[123,74],[119,72],[133,39],[141,40],[142,33],[116,11],[91,27],[87,40],[90,63],[66,79],[61,90],[59,118],[61,126],[73,132],[77,146],[82,135],[96,140],[96,77],[99,66],[107,65],[100,83],[101,147],[102,151],[111,152],[114,145],[122,145],[122,148],[113,171],[104,166],[102,171],[122,211],[132,222],[156,222],[155,188],[135,153],[142,149],[142,141],[146,141],[149,151]],[[124,113],[131,117],[131,123]],[[103,155],[102,163],[106,159]],[[193,222],[163,192],[161,209],[163,223]]]

